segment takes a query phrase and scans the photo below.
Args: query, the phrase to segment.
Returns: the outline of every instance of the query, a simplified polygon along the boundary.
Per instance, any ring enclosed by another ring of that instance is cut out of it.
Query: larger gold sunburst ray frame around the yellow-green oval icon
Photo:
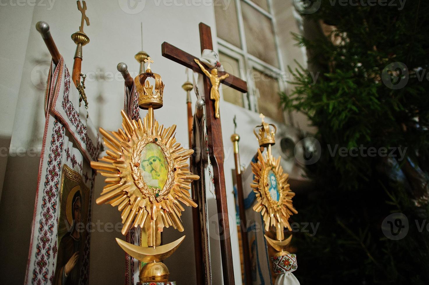
[[[122,129],[118,132],[100,128],[108,150],[99,160],[107,163],[91,162],[91,167],[106,177],[107,185],[96,203],[118,206],[124,235],[131,227],[154,228],[155,221],[160,230],[163,226],[172,226],[183,231],[180,216],[184,208],[179,201],[186,206],[197,206],[190,198],[189,189],[190,183],[199,176],[187,169],[187,160],[193,150],[184,149],[176,142],[176,125],[159,126],[154,120],[153,109],[138,121],[130,120],[123,110],[121,115]],[[163,189],[147,186],[139,170],[140,153],[148,143],[157,144],[166,158],[168,172]]]

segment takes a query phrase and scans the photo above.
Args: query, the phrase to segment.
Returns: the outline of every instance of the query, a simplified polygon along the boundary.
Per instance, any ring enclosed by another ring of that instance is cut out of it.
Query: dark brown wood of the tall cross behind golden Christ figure
[[[199,23],[199,39],[201,45],[201,52],[204,49],[213,50],[213,42],[211,40],[211,29],[204,23]],[[167,42],[162,44],[162,55],[170,60],[173,60],[195,72],[203,74],[200,67],[196,64],[194,59],[198,59]],[[208,71],[211,69],[205,67]],[[220,76],[226,75],[227,72],[219,72]],[[247,93],[247,83],[242,79],[229,74],[221,83],[226,84],[242,93]],[[214,180],[215,180],[215,194],[216,204],[219,219],[219,233],[223,233],[225,238],[220,240],[221,243],[221,258],[222,258],[222,271],[224,276],[224,284],[235,284],[234,270],[233,270],[233,255],[231,250],[230,239],[230,226],[228,219],[227,208],[227,193],[225,189],[225,174],[224,174],[224,143],[222,140],[221,120],[216,118],[215,102],[210,99],[211,84],[210,79],[204,77],[204,93],[205,93],[205,112],[207,122],[207,135],[208,147],[211,149],[210,161],[213,165]],[[201,249],[200,249],[201,252]],[[197,254],[197,250],[196,250]],[[197,264],[198,266],[198,264]],[[200,281],[198,280],[198,283]]]

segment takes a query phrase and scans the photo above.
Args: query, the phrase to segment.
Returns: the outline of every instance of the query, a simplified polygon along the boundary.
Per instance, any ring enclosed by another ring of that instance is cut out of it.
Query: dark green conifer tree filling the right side
[[[429,2],[304,2],[320,3],[305,22],[332,32],[296,35],[309,68],[289,68],[293,92],[280,94],[285,110],[317,127],[321,146],[307,166],[315,189],[294,200],[293,222],[320,222],[314,236],[294,233],[296,276],[429,284]]]

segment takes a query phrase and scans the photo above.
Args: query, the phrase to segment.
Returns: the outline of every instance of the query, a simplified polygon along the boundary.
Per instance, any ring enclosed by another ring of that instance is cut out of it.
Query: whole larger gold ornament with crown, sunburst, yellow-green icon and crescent
[[[171,255],[183,241],[184,236],[173,243],[160,246],[157,234],[163,227],[172,226],[184,231],[181,212],[186,206],[196,207],[190,198],[190,183],[199,176],[188,170],[187,160],[193,150],[187,150],[176,142],[176,125],[164,128],[154,118],[154,109],[163,105],[164,84],[161,76],[153,73],[148,57],[145,73],[134,79],[139,95],[139,107],[147,109],[142,120],[130,120],[124,111],[122,129],[109,132],[100,128],[108,150],[99,159],[107,162],[91,162],[91,167],[106,177],[97,204],[111,204],[121,211],[126,235],[131,227],[145,228],[148,232],[148,246],[136,246],[117,239],[118,244],[134,258],[148,262],[140,270],[140,282],[167,282],[168,269],[160,261]],[[151,85],[148,78],[153,78]],[[140,80],[143,79],[143,84]]]

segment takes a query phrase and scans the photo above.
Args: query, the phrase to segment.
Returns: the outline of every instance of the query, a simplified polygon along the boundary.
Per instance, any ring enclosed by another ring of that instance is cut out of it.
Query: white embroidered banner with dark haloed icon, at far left
[[[100,139],[79,97],[63,58],[51,63],[25,284],[89,282],[90,162]]]

